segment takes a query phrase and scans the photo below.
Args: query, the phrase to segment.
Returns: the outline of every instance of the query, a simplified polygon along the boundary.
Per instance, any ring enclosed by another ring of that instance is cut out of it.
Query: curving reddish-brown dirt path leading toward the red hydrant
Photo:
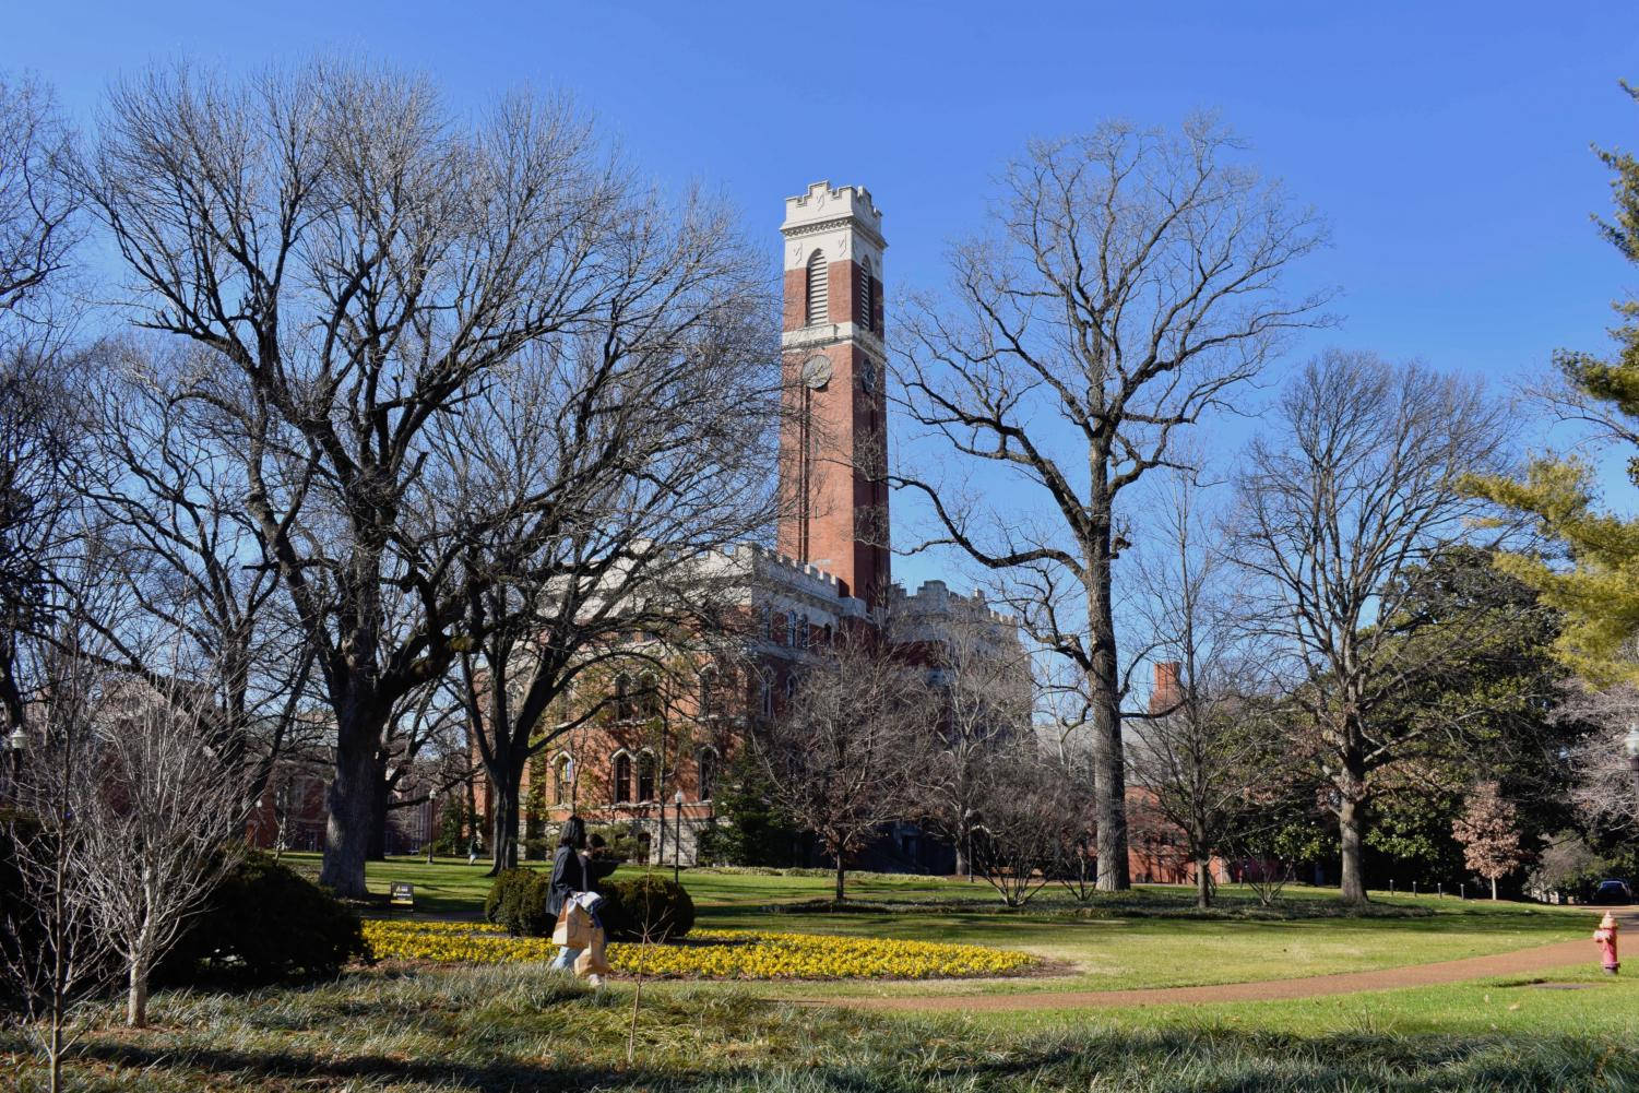
[[[1593,924],[1588,921],[1588,932]],[[1623,934],[1631,946],[1639,942],[1639,919],[1634,911],[1623,909]],[[1354,995],[1370,990],[1400,990],[1403,986],[1432,986],[1460,983],[1464,980],[1500,975],[1537,975],[1570,964],[1596,964],[1593,942],[1559,941],[1550,946],[1534,946],[1513,952],[1493,952],[1485,957],[1464,957],[1437,964],[1414,964],[1401,968],[1375,968],[1372,972],[1341,972],[1337,975],[1311,975],[1290,980],[1259,980],[1254,983],[1216,983],[1211,986],[1152,986],[1139,990],[1077,990],[1039,991],[1021,995],[898,995],[892,998],[815,998],[810,1005],[847,1006],[854,1009],[913,1009],[918,1013],[985,1013],[998,1009],[1080,1009],[1096,1006],[1165,1006],[1206,1005],[1214,1001],[1278,1001],[1288,998],[1319,998],[1324,995]],[[1629,960],[1632,955],[1629,954]]]

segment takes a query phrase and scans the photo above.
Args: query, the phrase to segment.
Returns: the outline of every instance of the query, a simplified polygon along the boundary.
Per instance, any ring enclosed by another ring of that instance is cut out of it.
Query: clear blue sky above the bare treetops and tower
[[[190,54],[228,69],[308,52],[429,72],[457,103],[574,92],[633,159],[720,188],[767,233],[818,179],[870,187],[892,287],[1037,134],[1216,108],[1333,226],[1301,277],[1339,329],[1498,380],[1600,347],[1639,274],[1601,243],[1591,141],[1639,144],[1639,5],[1587,3],[13,3],[0,67],[85,116],[107,82]],[[1277,369],[1278,375],[1278,369]],[[897,562],[918,578],[929,564]]]

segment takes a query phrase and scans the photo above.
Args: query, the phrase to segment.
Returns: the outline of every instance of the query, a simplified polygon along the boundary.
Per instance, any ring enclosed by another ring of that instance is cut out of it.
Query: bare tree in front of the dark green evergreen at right
[[[1414,721],[1388,711],[1473,637],[1457,618],[1413,639],[1423,619],[1408,606],[1424,564],[1485,511],[1457,480],[1501,467],[1506,426],[1475,382],[1333,351],[1292,380],[1239,475],[1234,557],[1259,582],[1259,626],[1295,665],[1293,744],[1331,790],[1344,900],[1365,900],[1365,808],[1380,772],[1462,728],[1434,710]]]

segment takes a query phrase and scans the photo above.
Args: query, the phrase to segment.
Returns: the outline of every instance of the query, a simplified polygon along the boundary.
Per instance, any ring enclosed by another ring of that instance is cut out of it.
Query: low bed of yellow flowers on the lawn
[[[488,923],[388,923],[369,919],[364,937],[379,960],[433,964],[513,964],[551,960],[557,946],[544,937],[508,937]],[[659,978],[839,980],[949,978],[1005,975],[1036,964],[1011,949],[946,946],[929,941],[829,937],[747,929],[695,931],[682,944],[615,942],[616,972]]]

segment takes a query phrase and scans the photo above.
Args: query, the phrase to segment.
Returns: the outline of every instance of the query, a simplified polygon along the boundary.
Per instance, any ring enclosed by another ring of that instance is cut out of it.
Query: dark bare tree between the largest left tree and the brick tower
[[[547,723],[557,700],[611,660],[664,675],[716,644],[742,593],[724,551],[775,516],[780,375],[757,264],[713,205],[644,220],[598,336],[529,361],[484,424],[441,438],[452,495],[508,498],[457,570],[482,634],[461,677],[495,791],[495,870],[516,864],[531,755],[603,710]],[[665,634],[664,654],[623,639],[639,633]]]

